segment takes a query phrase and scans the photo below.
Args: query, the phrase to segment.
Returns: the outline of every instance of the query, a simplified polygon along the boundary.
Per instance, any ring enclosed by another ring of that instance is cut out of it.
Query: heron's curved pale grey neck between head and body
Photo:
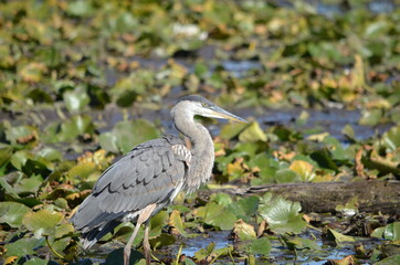
[[[208,129],[196,123],[193,116],[186,112],[175,112],[176,128],[191,141],[192,158],[188,174],[189,192],[199,188],[211,177],[214,163],[214,144]]]

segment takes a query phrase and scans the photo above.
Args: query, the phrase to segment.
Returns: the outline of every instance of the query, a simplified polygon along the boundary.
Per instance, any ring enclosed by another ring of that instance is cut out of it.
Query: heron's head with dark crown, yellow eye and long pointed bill
[[[209,118],[220,118],[239,123],[248,123],[245,119],[238,117],[223,108],[218,107],[215,104],[202,96],[190,95],[181,97],[177,102],[176,106],[178,105],[181,105],[185,112],[187,112],[189,115],[199,115]]]

